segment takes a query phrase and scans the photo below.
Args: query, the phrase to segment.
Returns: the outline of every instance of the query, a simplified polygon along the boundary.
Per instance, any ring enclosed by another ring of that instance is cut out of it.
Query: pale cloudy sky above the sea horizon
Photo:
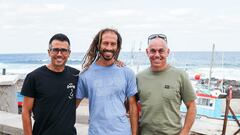
[[[45,53],[56,33],[86,52],[106,27],[122,35],[122,51],[144,51],[156,33],[171,51],[240,51],[240,1],[0,0],[0,54]]]

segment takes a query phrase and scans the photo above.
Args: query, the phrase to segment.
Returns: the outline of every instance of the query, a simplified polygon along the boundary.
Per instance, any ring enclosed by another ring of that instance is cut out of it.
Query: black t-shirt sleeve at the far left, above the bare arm
[[[36,94],[36,83],[34,76],[30,73],[26,76],[23,82],[21,95],[26,97],[32,97],[35,98]]]

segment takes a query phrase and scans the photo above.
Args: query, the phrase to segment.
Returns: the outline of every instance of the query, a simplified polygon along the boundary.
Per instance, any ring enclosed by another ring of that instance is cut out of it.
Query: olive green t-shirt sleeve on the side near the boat
[[[195,100],[197,97],[187,73],[183,72],[182,75],[183,77],[182,77],[181,95],[182,95],[183,102],[186,103],[186,102]]]

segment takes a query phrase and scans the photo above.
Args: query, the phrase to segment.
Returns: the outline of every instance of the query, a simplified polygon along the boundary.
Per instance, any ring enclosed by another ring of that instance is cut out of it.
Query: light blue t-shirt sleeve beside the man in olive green
[[[126,96],[131,97],[137,93],[137,83],[136,83],[136,76],[132,70],[128,70],[127,73],[127,90]]]

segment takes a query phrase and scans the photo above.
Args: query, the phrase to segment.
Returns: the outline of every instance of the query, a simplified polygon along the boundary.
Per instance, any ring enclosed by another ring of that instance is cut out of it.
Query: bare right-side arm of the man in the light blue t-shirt
[[[135,96],[129,97],[129,117],[132,127],[132,135],[137,135],[138,132],[138,111]]]

